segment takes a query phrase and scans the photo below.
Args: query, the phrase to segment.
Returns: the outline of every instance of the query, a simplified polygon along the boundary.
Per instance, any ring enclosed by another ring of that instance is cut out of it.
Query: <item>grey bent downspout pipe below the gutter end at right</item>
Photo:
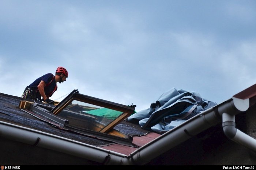
[[[234,100],[241,99],[235,98]],[[222,114],[222,122],[224,134],[229,139],[249,149],[252,149],[253,151],[256,151],[256,139],[250,137],[249,135],[243,133],[236,128],[235,115],[233,114],[233,112],[224,112]]]

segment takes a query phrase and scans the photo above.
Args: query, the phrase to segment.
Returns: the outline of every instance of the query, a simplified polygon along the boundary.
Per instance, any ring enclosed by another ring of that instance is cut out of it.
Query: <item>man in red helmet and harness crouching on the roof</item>
[[[53,100],[49,97],[57,90],[57,82],[63,83],[66,78],[68,78],[68,71],[64,67],[58,67],[55,76],[52,73],[45,74],[27,86],[22,98],[53,104]]]

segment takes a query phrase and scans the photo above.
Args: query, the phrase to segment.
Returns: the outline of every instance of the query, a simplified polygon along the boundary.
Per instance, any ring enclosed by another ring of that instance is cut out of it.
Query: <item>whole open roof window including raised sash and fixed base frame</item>
[[[135,107],[72,91],[57,106],[20,101],[19,108],[61,129],[131,145],[132,136],[113,129],[135,112]],[[85,109],[84,109],[85,108]]]

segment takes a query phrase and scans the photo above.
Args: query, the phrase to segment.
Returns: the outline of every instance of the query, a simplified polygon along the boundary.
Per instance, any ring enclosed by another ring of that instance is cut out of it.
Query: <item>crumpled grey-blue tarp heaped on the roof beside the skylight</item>
[[[143,129],[165,133],[215,105],[217,103],[202,98],[197,92],[172,88],[151,103],[150,108],[129,116],[127,120],[139,123]]]

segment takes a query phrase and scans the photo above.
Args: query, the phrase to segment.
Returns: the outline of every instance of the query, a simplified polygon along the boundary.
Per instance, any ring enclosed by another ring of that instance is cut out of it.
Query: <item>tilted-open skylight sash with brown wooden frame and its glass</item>
[[[68,119],[71,126],[107,133],[131,115],[134,110],[132,106],[79,94],[77,90],[74,90],[50,113]],[[75,118],[76,116],[80,121]]]

